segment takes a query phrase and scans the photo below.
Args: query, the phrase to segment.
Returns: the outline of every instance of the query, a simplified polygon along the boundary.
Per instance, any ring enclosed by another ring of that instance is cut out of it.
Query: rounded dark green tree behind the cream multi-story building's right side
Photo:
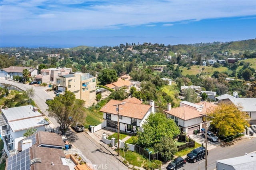
[[[116,82],[117,79],[117,73],[114,69],[104,69],[98,75],[98,80],[104,85]]]

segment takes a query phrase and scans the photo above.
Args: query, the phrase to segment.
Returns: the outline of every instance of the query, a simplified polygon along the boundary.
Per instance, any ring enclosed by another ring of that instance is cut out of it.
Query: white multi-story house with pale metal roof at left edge
[[[18,142],[24,133],[33,128],[36,131],[45,131],[49,123],[42,117],[36,107],[32,105],[4,108],[0,114],[0,131],[4,141],[4,150],[7,156],[18,152]]]

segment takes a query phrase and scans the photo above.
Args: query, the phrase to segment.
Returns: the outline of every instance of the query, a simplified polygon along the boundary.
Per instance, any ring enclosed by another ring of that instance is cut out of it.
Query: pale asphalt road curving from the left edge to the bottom
[[[48,112],[46,109],[48,106],[46,105],[46,99],[53,99],[53,92],[47,92],[46,89],[48,87],[36,87],[34,85],[22,84],[15,81],[9,81],[5,79],[0,79],[0,83],[6,83],[15,85],[20,89],[26,90],[27,88],[34,87],[35,95],[32,99],[35,101],[36,105],[38,105],[39,109],[48,116]],[[48,117],[51,121],[51,127],[58,127],[59,124],[52,117]],[[72,142],[72,144],[78,148],[84,156],[86,156],[92,164],[95,165],[97,169],[110,169],[110,170],[128,170],[122,162],[120,162],[115,156],[113,156],[108,150],[102,147],[98,142],[96,142],[93,138],[91,138],[85,132],[76,133],[73,130],[69,130],[66,133],[68,139]]]

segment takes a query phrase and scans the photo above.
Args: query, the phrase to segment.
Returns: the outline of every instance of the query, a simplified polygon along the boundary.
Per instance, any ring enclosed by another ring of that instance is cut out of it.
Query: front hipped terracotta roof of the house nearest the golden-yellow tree
[[[178,117],[179,119],[182,119],[184,121],[201,117],[202,115],[200,114],[203,114],[197,111],[196,109],[191,109],[186,106],[172,108],[170,111],[165,110],[164,112],[170,115],[173,115],[175,117]]]

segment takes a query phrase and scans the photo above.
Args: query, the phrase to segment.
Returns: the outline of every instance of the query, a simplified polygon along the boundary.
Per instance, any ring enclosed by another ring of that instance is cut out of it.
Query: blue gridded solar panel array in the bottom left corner
[[[9,157],[6,170],[30,170],[29,148]]]

